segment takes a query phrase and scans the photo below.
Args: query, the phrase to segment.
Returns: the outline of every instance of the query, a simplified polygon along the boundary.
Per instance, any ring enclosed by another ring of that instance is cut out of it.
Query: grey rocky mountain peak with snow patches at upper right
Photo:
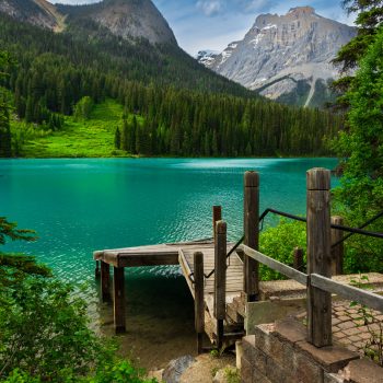
[[[201,61],[216,72],[269,98],[318,105],[330,96],[327,82],[338,73],[330,63],[356,30],[315,13],[311,7],[286,15],[259,15],[241,42]]]

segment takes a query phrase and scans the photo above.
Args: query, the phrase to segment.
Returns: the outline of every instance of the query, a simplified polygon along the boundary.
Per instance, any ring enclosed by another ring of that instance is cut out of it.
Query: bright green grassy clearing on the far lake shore
[[[113,100],[93,107],[89,120],[65,118],[65,128],[44,137],[36,135],[23,144],[25,158],[111,158],[129,156],[114,146],[115,131],[121,126],[124,108]],[[132,116],[128,116],[131,119]],[[138,118],[142,121],[142,118]]]

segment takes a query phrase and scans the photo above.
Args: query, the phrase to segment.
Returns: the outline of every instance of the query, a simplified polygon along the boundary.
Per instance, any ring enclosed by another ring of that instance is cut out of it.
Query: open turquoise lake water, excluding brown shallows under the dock
[[[93,278],[92,252],[211,236],[222,205],[231,240],[242,234],[242,179],[260,172],[260,206],[305,211],[305,171],[334,159],[2,160],[0,214],[37,231],[12,244],[66,279]],[[150,270],[176,274],[174,268]],[[139,274],[139,272],[138,272]]]

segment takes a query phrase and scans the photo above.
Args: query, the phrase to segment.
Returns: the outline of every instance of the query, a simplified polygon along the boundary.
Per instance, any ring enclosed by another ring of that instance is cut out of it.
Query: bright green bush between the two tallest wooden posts
[[[260,234],[260,252],[286,265],[293,265],[294,247],[301,247],[305,253],[306,230],[304,222],[281,219],[276,227],[267,228]],[[259,272],[263,280],[283,278],[279,272],[264,265],[260,265]]]

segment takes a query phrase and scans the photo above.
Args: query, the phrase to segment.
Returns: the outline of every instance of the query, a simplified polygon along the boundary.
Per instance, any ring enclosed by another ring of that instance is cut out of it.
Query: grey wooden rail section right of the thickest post
[[[339,283],[329,278],[320,276],[317,274],[311,275],[311,285],[337,295],[344,297],[350,301],[364,304],[370,309],[378,310],[383,313],[383,297],[371,291],[358,289],[353,286]]]

